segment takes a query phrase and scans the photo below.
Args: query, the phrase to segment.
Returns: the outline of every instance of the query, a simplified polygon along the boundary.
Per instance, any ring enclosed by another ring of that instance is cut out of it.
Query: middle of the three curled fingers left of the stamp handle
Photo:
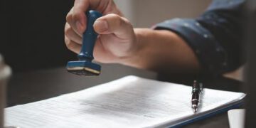
[[[65,36],[75,43],[82,44],[82,37],[75,33],[68,23],[65,24]]]

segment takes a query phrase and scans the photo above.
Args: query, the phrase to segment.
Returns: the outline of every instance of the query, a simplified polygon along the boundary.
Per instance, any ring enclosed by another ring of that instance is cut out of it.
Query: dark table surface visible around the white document
[[[65,93],[83,90],[87,87],[116,80],[126,75],[137,75],[143,78],[158,78],[156,73],[138,70],[123,65],[102,65],[100,76],[84,77],[68,73],[65,68],[36,70],[24,73],[14,73],[9,81],[7,106],[22,105],[28,102],[45,100]],[[167,77],[168,81],[185,83],[190,78],[179,76]],[[242,83],[228,78],[203,78],[204,87],[218,90],[241,91]],[[229,127],[227,112],[214,117],[193,122],[184,127]]]

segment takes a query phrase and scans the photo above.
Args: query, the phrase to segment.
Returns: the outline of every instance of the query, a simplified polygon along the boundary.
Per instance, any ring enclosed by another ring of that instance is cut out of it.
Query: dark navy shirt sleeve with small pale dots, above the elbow
[[[219,75],[242,63],[243,0],[214,0],[198,18],[173,18],[154,29],[174,31],[190,46],[203,73]]]

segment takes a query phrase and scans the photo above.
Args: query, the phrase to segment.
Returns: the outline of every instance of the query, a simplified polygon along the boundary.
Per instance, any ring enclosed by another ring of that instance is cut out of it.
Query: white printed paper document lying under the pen
[[[172,127],[237,105],[244,93],[204,89],[191,109],[191,86],[127,76],[48,100],[5,109],[5,125],[48,127]]]

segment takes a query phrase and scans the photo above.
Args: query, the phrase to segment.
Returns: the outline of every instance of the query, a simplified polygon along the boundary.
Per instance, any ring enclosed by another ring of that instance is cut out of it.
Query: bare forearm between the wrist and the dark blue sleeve
[[[120,62],[135,68],[156,72],[191,73],[200,70],[193,50],[176,33],[135,28],[137,48]]]

